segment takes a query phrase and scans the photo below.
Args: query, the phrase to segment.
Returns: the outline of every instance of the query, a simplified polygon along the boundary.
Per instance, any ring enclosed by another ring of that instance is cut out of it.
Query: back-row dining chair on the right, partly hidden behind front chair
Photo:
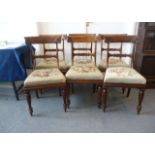
[[[122,54],[122,48],[123,48],[123,43],[120,42],[109,42],[108,40],[110,39],[121,39],[121,37],[127,36],[127,34],[99,34],[98,35],[98,40],[101,43],[101,51],[100,51],[100,63],[98,65],[98,68],[102,71],[105,72],[107,67],[118,67],[118,66],[125,66],[125,67],[130,67],[129,64],[127,64],[124,60],[122,60],[121,57],[110,57],[108,59],[108,53],[112,54]],[[125,88],[122,88],[122,93],[125,93]],[[130,90],[127,90],[127,97],[129,97]]]

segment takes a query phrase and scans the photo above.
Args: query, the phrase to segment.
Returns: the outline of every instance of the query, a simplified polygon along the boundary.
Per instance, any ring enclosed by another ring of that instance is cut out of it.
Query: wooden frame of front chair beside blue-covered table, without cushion
[[[57,59],[57,64],[59,66],[58,61],[58,44],[61,42],[61,35],[55,35],[55,36],[29,36],[25,37],[25,42],[30,48],[30,53],[32,56],[32,64],[33,64],[33,70],[35,70],[36,66],[36,59],[41,58],[51,58],[55,57]],[[55,43],[56,44],[56,55],[44,55],[44,54],[38,54],[35,55],[35,50],[33,45],[43,45],[46,43]],[[41,70],[41,69],[40,69]],[[32,71],[33,72],[33,71]],[[66,86],[66,83],[59,83],[59,84],[42,84],[42,85],[35,85],[35,86],[24,86],[24,94],[27,99],[27,104],[29,108],[29,113],[32,116],[33,115],[33,108],[31,105],[31,94],[30,92],[32,90],[42,90],[42,89],[50,89],[50,88],[60,88],[63,90],[63,100],[64,100],[64,111],[66,112],[68,104],[69,104],[69,96],[68,96],[68,89]]]

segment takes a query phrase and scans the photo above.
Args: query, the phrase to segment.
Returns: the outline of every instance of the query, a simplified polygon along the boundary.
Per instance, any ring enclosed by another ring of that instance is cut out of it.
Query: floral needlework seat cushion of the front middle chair
[[[103,73],[95,66],[72,66],[66,73],[68,80],[103,80]]]

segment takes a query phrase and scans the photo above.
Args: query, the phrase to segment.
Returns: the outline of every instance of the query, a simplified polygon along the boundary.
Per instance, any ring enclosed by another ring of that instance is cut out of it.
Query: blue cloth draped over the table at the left
[[[25,44],[0,48],[0,81],[19,81],[26,78],[22,54],[29,55],[29,48]]]

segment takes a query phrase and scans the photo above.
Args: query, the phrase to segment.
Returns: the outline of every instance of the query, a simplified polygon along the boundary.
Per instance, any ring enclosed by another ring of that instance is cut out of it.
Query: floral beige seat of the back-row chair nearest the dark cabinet
[[[101,71],[105,71],[107,67],[130,67],[128,64],[126,64],[124,61],[120,60],[119,58],[110,58],[109,59],[109,65],[107,65],[107,60],[103,59],[98,65],[98,68]]]

